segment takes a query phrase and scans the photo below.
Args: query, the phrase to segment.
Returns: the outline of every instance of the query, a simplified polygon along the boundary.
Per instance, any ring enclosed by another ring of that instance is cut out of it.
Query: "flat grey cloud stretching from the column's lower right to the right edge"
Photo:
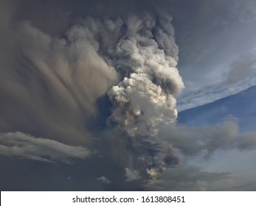
[[[209,159],[218,149],[256,149],[256,132],[239,132],[236,118],[226,118],[216,126],[163,127],[159,135],[187,157],[203,154]]]

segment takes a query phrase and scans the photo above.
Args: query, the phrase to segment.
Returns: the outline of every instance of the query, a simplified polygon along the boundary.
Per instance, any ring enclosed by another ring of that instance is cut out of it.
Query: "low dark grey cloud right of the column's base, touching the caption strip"
[[[149,191],[229,191],[241,182],[228,173],[200,171],[195,166],[169,168],[159,180],[150,180],[144,187]]]

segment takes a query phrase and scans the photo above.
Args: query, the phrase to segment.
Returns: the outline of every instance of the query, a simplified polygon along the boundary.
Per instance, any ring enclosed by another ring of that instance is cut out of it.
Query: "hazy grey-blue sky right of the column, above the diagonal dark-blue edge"
[[[186,16],[176,12],[173,20],[177,24],[179,72],[186,86],[177,97],[179,110],[210,103],[255,85],[255,2],[190,4],[196,11],[180,6]]]

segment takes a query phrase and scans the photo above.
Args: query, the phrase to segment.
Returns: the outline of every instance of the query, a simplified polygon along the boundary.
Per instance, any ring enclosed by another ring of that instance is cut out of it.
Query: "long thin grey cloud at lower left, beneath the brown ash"
[[[54,163],[69,163],[73,158],[89,157],[89,149],[81,146],[69,146],[47,138],[35,138],[22,132],[0,134],[0,154],[23,157]]]

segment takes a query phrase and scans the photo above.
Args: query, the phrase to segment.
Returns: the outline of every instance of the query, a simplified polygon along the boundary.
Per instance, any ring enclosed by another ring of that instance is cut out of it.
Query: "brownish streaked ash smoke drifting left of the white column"
[[[66,39],[54,38],[24,21],[13,44],[0,71],[1,132],[87,144],[86,124],[99,116],[96,101],[117,82],[91,33],[74,26]]]

